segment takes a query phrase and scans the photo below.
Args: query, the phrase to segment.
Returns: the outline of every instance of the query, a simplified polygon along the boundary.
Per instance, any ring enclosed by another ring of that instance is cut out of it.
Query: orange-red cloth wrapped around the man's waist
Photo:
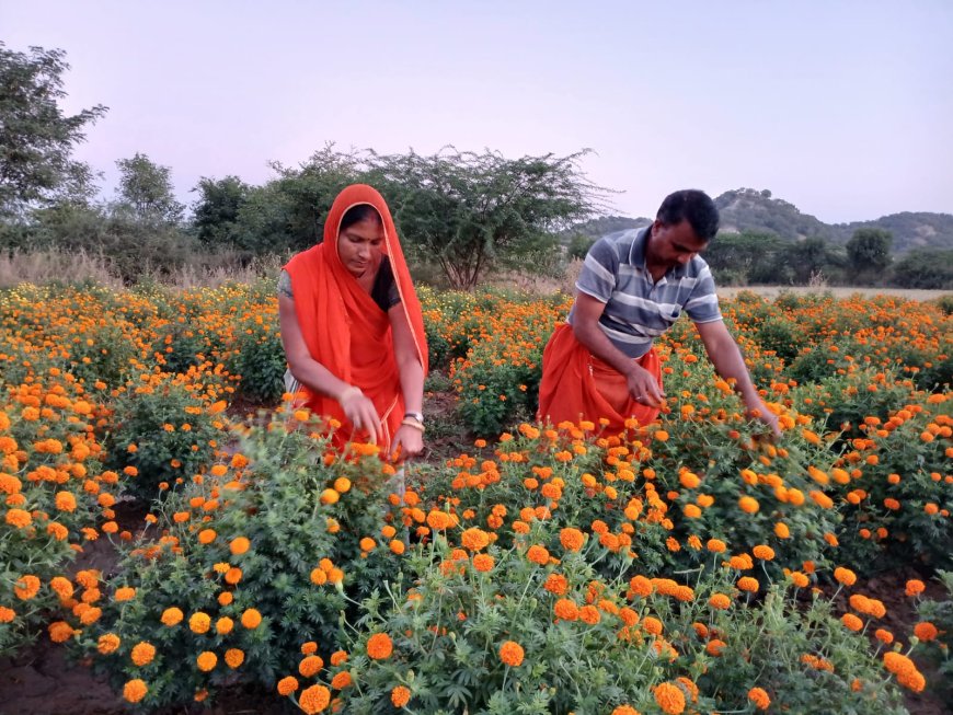
[[[636,362],[662,385],[662,366],[654,347]],[[609,420],[606,431],[621,433],[630,417],[647,425],[657,416],[657,408],[632,400],[622,373],[589,353],[576,339],[572,325],[556,326],[542,354],[539,419],[554,425],[587,419],[598,425],[605,417]]]

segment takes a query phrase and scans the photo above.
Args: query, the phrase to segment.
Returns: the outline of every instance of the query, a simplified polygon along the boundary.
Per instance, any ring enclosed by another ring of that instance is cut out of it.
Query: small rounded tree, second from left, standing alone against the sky
[[[182,220],[185,206],[175,200],[170,170],[152,163],[146,154],[119,159],[118,212],[131,214],[143,223],[174,226]]]

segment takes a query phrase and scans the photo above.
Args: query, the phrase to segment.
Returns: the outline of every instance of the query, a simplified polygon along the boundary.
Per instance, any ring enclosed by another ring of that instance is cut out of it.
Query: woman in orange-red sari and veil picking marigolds
[[[423,449],[427,343],[421,303],[390,209],[370,186],[345,188],[324,240],[278,280],[282,342],[305,406],[337,420],[333,440],[384,454]]]

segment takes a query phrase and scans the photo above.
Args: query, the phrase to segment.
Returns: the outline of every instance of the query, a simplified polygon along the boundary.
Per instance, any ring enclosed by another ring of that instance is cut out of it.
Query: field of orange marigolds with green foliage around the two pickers
[[[457,449],[399,471],[285,402],[273,284],[0,293],[0,657],[51,642],[143,713],[949,702],[942,302],[725,301],[772,442],[685,322],[661,419],[611,435],[532,419],[569,298],[421,299]]]

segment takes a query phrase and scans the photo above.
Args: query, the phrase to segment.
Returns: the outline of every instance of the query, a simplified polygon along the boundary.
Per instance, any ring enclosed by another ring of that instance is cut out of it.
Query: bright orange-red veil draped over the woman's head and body
[[[427,338],[421,302],[414,291],[390,209],[375,188],[354,184],[341,192],[324,222],[324,241],[295,255],[285,269],[291,277],[295,313],[308,351],[332,374],[360,388],[374,402],[383,426],[378,443],[388,449],[404,416],[390,319],[361,289],[337,254],[341,219],[348,209],[361,204],[369,204],[380,214],[384,233],[381,251],[390,256],[401,297],[400,305],[411,326],[417,357],[426,376]],[[334,433],[334,443],[341,448],[351,441],[354,428],[337,401],[303,385],[301,389],[307,407],[341,423],[341,428]],[[358,438],[366,439],[366,434],[358,435]]]

